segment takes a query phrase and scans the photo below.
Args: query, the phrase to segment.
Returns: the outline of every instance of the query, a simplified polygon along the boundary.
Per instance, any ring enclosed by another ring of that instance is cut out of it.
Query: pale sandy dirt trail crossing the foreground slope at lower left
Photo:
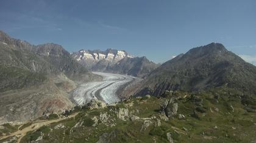
[[[11,133],[10,135],[1,136],[0,140],[9,138],[10,136],[16,136],[18,138],[17,142],[20,143],[21,139],[26,135],[27,132],[37,130],[38,128],[42,127],[43,125],[49,125],[49,124],[52,124],[53,122],[59,122],[59,121],[65,120],[65,119],[74,118],[78,113],[79,112],[74,113],[73,115],[69,115],[66,118],[59,118],[59,119],[54,119],[54,120],[49,120],[49,121],[43,120],[43,121],[35,122],[35,123],[29,125],[29,127],[23,128],[22,130],[15,131],[15,132]]]

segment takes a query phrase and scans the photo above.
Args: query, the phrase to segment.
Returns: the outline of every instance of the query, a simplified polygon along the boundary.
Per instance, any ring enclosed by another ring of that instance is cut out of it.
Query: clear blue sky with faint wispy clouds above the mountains
[[[115,48],[154,62],[220,42],[256,64],[253,0],[2,0],[0,29],[69,52]]]

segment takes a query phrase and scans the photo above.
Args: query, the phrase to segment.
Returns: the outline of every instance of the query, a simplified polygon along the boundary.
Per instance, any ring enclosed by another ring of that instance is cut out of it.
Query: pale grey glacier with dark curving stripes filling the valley
[[[107,104],[120,101],[116,95],[116,91],[127,82],[132,81],[135,77],[127,75],[119,75],[113,73],[93,72],[103,77],[102,81],[88,82],[79,85],[74,90],[73,98],[79,105],[89,102],[93,98],[100,96]],[[98,95],[96,95],[98,94]]]

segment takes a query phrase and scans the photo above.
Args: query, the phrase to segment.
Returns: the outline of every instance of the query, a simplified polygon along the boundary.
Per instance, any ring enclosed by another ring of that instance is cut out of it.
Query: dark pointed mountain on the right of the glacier
[[[256,67],[224,45],[211,43],[162,64],[143,81],[137,94],[159,96],[165,90],[198,91],[221,86],[256,93]]]

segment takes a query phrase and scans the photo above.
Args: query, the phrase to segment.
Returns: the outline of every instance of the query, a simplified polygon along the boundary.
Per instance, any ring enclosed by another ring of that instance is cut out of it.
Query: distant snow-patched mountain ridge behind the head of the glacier
[[[146,57],[138,58],[124,50],[108,48],[101,50],[79,50],[71,53],[74,59],[91,71],[127,74],[144,78],[158,67]]]

